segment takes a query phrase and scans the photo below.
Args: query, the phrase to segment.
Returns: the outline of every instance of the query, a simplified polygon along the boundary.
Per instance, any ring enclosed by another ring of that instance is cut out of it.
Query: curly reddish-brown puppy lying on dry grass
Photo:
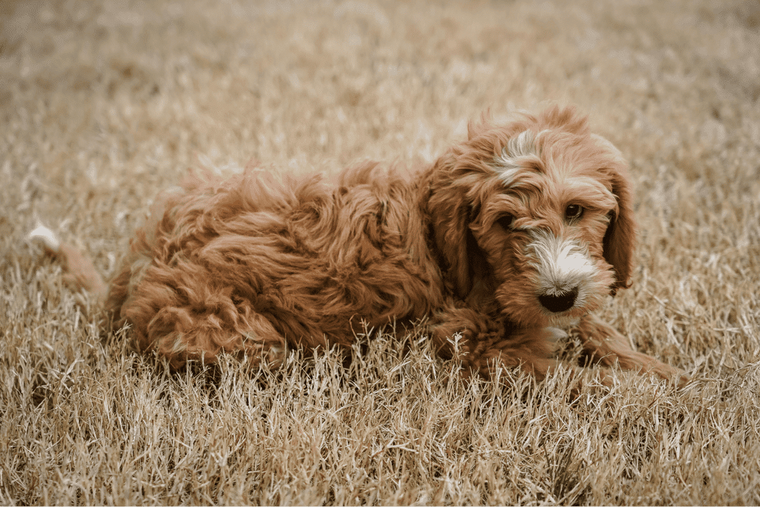
[[[688,378],[594,314],[630,285],[632,191],[622,154],[571,107],[470,123],[467,140],[414,170],[192,176],[156,200],[109,285],[46,234],[33,237],[114,326],[172,367],[223,353],[277,366],[288,347],[421,321],[465,375],[581,373],[555,357],[569,330],[603,382],[613,365]]]

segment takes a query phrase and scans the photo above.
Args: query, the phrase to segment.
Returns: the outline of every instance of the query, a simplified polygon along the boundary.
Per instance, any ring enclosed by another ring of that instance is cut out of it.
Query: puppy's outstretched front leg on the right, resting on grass
[[[623,370],[637,373],[653,373],[663,379],[675,379],[679,387],[689,382],[689,376],[683,370],[635,351],[625,336],[593,313],[584,316],[572,332],[581,339],[584,352],[592,361],[605,366],[617,364]]]

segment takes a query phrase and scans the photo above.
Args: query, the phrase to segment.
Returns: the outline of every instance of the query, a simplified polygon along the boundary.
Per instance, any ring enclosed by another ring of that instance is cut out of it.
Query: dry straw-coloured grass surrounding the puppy
[[[570,5],[0,3],[0,504],[760,505],[760,6]],[[546,99],[632,162],[639,267],[604,313],[683,391],[462,383],[376,330],[169,374],[24,241],[42,219],[108,274],[198,158],[413,163]]]

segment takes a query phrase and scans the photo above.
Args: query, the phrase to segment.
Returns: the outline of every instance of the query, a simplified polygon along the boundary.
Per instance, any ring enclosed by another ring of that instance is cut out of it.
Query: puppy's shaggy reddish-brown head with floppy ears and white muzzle
[[[521,325],[562,323],[628,287],[627,166],[587,118],[557,106],[469,139],[433,166],[428,210],[451,289]]]

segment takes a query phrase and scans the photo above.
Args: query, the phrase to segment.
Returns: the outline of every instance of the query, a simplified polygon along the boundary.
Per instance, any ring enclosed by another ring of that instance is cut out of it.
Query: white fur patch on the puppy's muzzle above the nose
[[[582,304],[595,268],[591,257],[575,241],[557,238],[549,231],[530,231],[533,241],[527,245],[534,257],[537,294],[559,296],[578,291],[573,306]]]

